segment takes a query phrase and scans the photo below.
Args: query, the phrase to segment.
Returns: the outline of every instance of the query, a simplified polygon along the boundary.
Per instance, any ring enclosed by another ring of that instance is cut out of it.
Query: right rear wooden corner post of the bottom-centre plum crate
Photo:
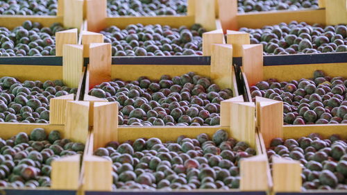
[[[230,133],[237,140],[255,148],[255,105],[251,102],[232,102],[230,107]]]

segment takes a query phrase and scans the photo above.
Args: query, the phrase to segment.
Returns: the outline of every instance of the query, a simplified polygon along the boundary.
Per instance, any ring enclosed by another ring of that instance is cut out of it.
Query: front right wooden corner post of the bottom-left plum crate
[[[77,190],[81,155],[71,155],[53,160],[51,189]]]

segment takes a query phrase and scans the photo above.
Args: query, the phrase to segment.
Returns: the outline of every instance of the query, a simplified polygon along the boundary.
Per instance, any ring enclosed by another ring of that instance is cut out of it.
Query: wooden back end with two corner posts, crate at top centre
[[[216,29],[215,17],[217,15],[216,0],[188,0],[187,15],[162,15],[155,17],[109,17],[107,15],[106,0],[86,0],[85,12],[87,18],[87,30],[99,32],[111,25],[125,28],[129,24],[161,24],[175,28],[180,26],[192,26],[194,23],[202,24],[208,31]]]

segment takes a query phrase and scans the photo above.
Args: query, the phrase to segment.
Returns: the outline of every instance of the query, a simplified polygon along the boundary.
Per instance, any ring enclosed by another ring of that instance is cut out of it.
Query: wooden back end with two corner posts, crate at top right
[[[323,0],[319,2],[318,9],[237,13],[237,0],[219,0],[219,19],[225,32],[237,31],[241,27],[262,28],[293,20],[307,24],[336,25],[346,23],[347,8],[346,0]]]

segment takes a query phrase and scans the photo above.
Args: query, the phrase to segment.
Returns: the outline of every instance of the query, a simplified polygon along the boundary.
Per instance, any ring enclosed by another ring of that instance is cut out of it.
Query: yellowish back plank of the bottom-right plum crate
[[[347,139],[347,124],[283,126],[284,139],[299,139],[300,137],[307,137],[311,133],[319,133],[324,138],[338,134]]]

